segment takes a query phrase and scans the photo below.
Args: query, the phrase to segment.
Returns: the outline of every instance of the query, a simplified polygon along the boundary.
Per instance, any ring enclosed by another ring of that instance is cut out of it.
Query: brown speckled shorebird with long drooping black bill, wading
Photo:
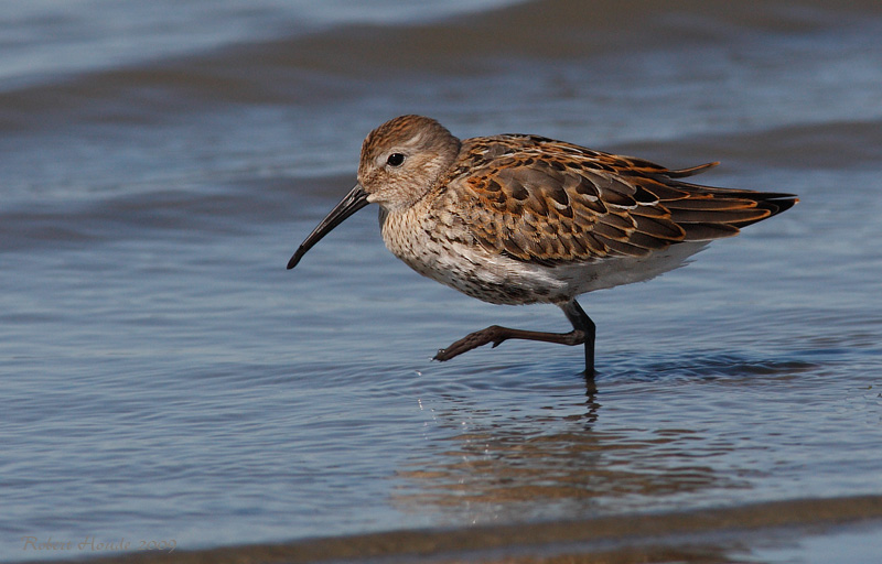
[[[386,247],[410,268],[494,304],[550,303],[569,333],[492,325],[440,349],[528,339],[584,345],[594,375],[595,327],[576,297],[682,265],[709,241],[796,204],[792,194],[702,186],[684,178],[719,163],[670,170],[539,135],[460,140],[438,121],[401,116],[362,145],[358,182],[288,262],[379,205]]]

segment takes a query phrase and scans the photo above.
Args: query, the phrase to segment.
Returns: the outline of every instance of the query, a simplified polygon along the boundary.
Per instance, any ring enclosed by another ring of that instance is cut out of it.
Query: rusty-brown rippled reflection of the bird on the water
[[[604,506],[639,511],[650,498],[670,509],[680,494],[744,487],[688,454],[695,431],[604,430],[601,397],[585,379],[578,409],[570,397],[549,414],[526,416],[496,416],[450,398],[447,411],[435,409],[435,422],[465,431],[398,473],[406,485],[394,503],[420,512],[429,505],[451,522],[477,523],[581,518],[604,513]]]

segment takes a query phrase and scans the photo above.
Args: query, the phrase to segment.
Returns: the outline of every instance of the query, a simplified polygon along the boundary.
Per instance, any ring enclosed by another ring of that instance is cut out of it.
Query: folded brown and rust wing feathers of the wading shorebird
[[[466,224],[487,249],[560,264],[646,257],[681,241],[732,236],[792,207],[789,194],[701,186],[648,161],[527,135],[469,140],[456,184]],[[465,171],[469,171],[467,173]]]

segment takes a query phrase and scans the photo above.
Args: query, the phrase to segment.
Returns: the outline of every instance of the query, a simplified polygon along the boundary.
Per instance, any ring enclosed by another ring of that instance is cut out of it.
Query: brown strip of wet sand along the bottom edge
[[[863,496],[82,560],[94,564],[771,562],[766,560],[770,553],[799,556],[807,550],[804,541],[820,539],[833,543],[841,562],[861,563],[874,557],[876,546],[868,541],[880,539],[881,533],[882,496]],[[837,542],[843,535],[865,539],[845,545]]]

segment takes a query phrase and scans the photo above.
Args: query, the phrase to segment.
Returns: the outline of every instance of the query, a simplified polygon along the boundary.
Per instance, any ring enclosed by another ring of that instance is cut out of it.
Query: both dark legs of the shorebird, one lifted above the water
[[[493,343],[497,347],[507,339],[541,340],[544,343],[557,343],[560,345],[582,345],[585,346],[585,373],[594,375],[594,323],[585,315],[576,300],[571,300],[561,308],[570,319],[573,329],[570,333],[545,333],[538,330],[512,329],[491,325],[486,329],[476,330],[461,338],[448,348],[442,348],[434,356],[435,360],[450,360],[453,357],[467,352],[473,348]]]

